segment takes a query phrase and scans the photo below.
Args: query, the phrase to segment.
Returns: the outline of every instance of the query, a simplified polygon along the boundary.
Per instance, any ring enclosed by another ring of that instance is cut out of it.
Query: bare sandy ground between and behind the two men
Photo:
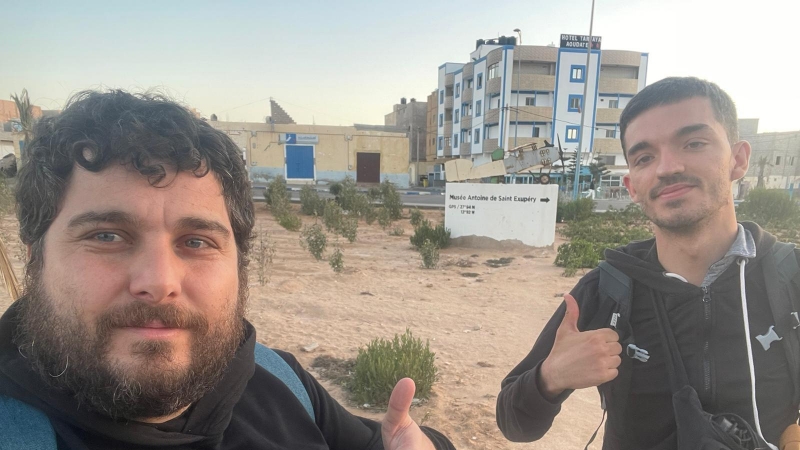
[[[561,276],[553,265],[555,252],[449,248],[442,251],[439,269],[426,270],[408,241],[413,231],[408,220],[398,223],[403,236],[362,222],[355,243],[339,239],[346,270],[336,274],[300,247],[299,233],[281,228],[263,205],[258,211],[259,224],[276,246],[268,283],[260,286],[251,274],[248,317],[261,342],[294,353],[316,374],[310,365],[318,356],[355,358],[373,338],[391,338],[410,328],[430,340],[440,373],[431,400],[412,408],[412,416],[445,433],[457,448],[578,449],[586,444],[601,417],[593,389],[573,394],[538,442],[508,442],[495,424],[500,382],[530,350],[561,294],[578,280]],[[443,218],[439,211],[425,214],[436,222]],[[313,220],[303,217],[304,223]],[[0,235],[21,274],[16,228],[10,216],[0,221]],[[514,260],[500,268],[485,264],[502,257]],[[9,304],[8,295],[0,294],[0,311]],[[302,350],[313,343],[318,347],[312,352]],[[322,383],[354,414],[382,416],[359,409],[337,385]],[[595,442],[591,448],[600,447]]]

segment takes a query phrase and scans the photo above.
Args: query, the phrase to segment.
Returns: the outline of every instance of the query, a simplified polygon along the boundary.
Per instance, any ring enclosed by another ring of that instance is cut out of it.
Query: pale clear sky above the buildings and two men
[[[589,34],[591,0],[15,1],[0,20],[0,98],[61,109],[85,89],[158,89],[204,116],[383,124],[425,101],[444,62],[522,30],[525,45]],[[800,129],[800,1],[597,0],[604,49],[650,54],[647,83],[714,81],[759,131]]]

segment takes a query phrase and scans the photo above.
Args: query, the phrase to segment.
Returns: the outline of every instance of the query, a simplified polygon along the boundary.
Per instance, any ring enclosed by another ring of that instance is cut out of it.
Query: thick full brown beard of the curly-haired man
[[[37,268],[29,267],[41,273]],[[29,273],[20,299],[15,343],[46,384],[75,397],[79,404],[112,418],[164,417],[191,405],[214,388],[244,338],[247,284],[239,283],[235,308],[219,323],[174,304],[135,301],[106,311],[91,335],[75,308],[57,310],[38,273]],[[112,336],[122,326],[152,321],[191,333],[189,362],[171,364],[173,344],[142,340],[126,349],[134,363],[113,361]]]

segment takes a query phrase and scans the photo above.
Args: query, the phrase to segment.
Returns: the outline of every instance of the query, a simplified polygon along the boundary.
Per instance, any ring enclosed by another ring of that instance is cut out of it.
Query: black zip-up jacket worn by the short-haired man
[[[775,237],[757,225],[743,223],[756,242],[756,258],[745,266],[745,286],[752,336],[764,334],[774,324],[761,259],[769,256]],[[800,253],[795,251],[800,259]],[[655,240],[634,242],[606,252],[606,260],[634,280],[631,325],[636,345],[650,352],[646,363],[624,362],[630,370],[628,398],[607,398],[608,422],[604,449],[669,448],[675,429],[664,349],[653,311],[650,290],[663,298],[670,326],[686,365],[689,382],[709,413],[736,413],[751,424],[750,378],[744,341],[739,266],[734,263],[714,281],[706,296],[701,288],[665,277],[658,262]],[[578,327],[585,330],[597,312],[599,270],[584,276],[572,295],[580,307]],[[649,289],[648,289],[649,288]],[[800,295],[795,284],[794,295]],[[798,298],[798,297],[795,297]],[[512,441],[541,438],[571,392],[555,403],[542,397],[536,378],[550,354],[555,333],[564,317],[562,304],[545,325],[527,357],[502,382],[497,399],[497,424]],[[775,342],[764,351],[751,340],[756,368],[756,392],[764,437],[777,444],[783,430],[797,421],[798,405],[792,404],[794,383],[782,348]],[[627,358],[623,355],[623,359]],[[622,377],[622,372],[615,383]],[[600,414],[598,413],[598,421]],[[587,440],[588,440],[587,435]]]

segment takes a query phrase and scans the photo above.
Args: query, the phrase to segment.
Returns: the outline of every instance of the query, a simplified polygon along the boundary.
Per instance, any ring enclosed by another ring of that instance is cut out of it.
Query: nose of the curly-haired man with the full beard
[[[181,294],[183,264],[168,241],[142,243],[131,261],[131,295],[149,303],[177,298]]]

